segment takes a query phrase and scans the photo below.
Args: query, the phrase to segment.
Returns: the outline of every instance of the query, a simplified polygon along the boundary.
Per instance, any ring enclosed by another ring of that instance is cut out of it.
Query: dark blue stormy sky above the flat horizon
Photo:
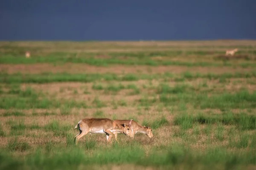
[[[0,0],[0,40],[256,39],[256,0]]]

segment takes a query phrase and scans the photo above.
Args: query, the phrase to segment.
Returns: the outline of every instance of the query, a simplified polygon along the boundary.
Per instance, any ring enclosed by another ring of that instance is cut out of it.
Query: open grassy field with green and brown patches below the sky
[[[0,42],[0,70],[1,170],[256,169],[256,41]],[[75,146],[89,117],[154,137]]]

